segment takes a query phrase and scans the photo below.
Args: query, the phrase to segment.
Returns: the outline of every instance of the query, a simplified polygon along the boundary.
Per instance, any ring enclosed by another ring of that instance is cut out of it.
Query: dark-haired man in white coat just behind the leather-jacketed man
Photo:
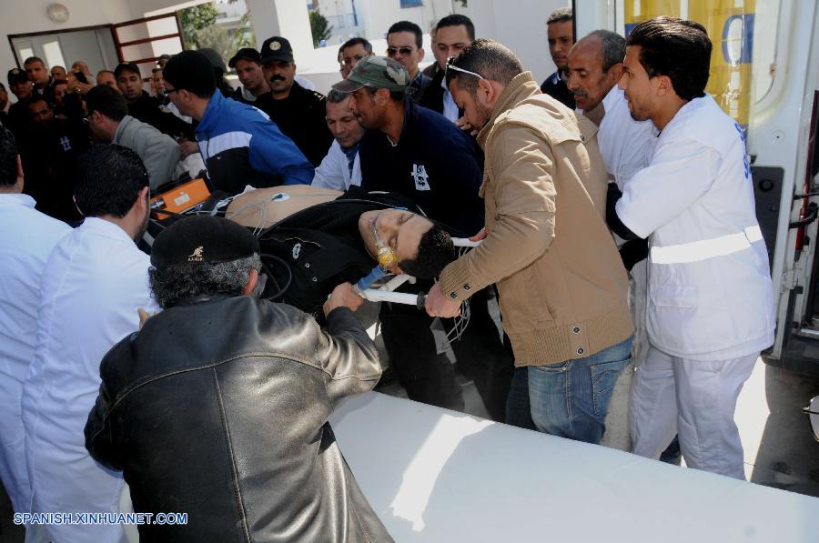
[[[122,474],[101,467],[83,428],[99,389],[99,364],[153,308],[145,232],[148,176],[136,153],[94,146],[80,159],[76,205],[86,217],[45,265],[35,359],[25,378],[25,451],[35,508],[42,513],[119,513]],[[124,540],[121,525],[53,524],[56,542]]]

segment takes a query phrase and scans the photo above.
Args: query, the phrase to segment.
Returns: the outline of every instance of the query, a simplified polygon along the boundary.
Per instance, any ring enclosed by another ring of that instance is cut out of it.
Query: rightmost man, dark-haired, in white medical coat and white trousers
[[[702,25],[657,17],[627,45],[620,86],[632,116],[656,128],[649,166],[616,205],[650,248],[634,452],[658,458],[678,432],[689,467],[744,478],[733,411],[774,320],[743,131],[704,93],[712,45]]]

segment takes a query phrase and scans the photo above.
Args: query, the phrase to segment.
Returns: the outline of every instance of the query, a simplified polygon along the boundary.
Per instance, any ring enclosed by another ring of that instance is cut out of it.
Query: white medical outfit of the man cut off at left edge
[[[34,206],[31,196],[0,194],[0,478],[20,512],[31,507],[20,399],[35,357],[40,278],[56,242],[71,231]]]

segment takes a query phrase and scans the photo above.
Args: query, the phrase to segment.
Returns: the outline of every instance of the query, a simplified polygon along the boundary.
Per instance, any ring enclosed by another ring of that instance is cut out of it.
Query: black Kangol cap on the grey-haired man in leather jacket
[[[258,252],[258,239],[244,226],[217,216],[189,216],[157,236],[151,264],[218,264]]]

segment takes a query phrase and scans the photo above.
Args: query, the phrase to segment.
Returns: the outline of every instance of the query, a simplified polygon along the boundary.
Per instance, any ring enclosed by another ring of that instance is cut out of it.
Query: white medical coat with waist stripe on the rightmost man
[[[724,360],[773,344],[773,287],[743,132],[711,96],[682,106],[653,138],[649,166],[625,184],[616,209],[649,239],[654,347]]]

